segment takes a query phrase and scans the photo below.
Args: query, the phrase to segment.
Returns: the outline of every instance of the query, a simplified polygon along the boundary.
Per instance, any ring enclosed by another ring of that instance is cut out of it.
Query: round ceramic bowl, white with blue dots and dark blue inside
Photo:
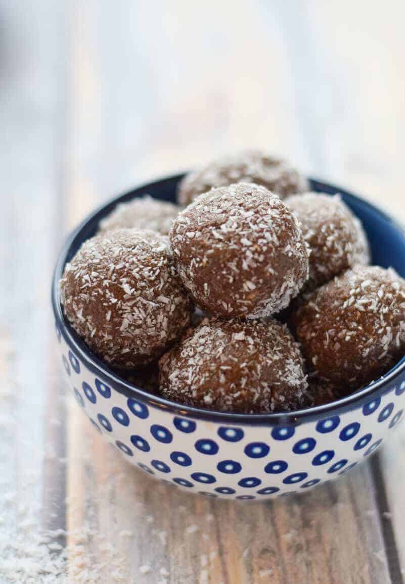
[[[63,248],[54,272],[52,304],[65,377],[92,425],[126,458],[185,491],[251,500],[304,492],[366,460],[401,419],[405,359],[383,378],[331,404],[292,413],[234,414],[192,408],[126,383],[72,330],[58,281],[78,248],[117,203],[145,193],[175,200],[182,175],[141,186],[96,210]],[[385,213],[318,180],[311,189],[341,193],[361,219],[373,263],[405,276],[405,232]]]

